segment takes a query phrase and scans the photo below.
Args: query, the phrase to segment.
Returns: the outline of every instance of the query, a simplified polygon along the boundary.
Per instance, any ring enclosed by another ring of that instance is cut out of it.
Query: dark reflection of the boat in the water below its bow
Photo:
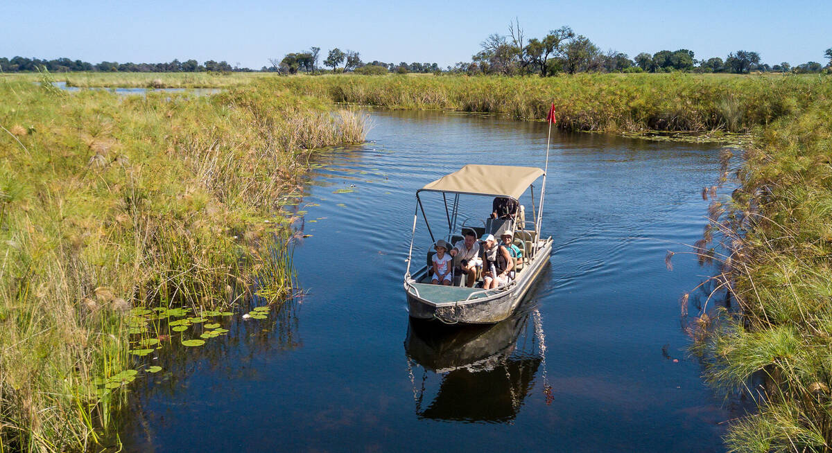
[[[547,388],[540,327],[537,310],[488,326],[445,326],[411,318],[404,348],[417,415],[447,421],[513,421],[541,365]],[[421,382],[414,376],[418,366]],[[440,377],[438,389],[431,388],[435,385],[428,372]],[[431,393],[435,395],[426,396]]]

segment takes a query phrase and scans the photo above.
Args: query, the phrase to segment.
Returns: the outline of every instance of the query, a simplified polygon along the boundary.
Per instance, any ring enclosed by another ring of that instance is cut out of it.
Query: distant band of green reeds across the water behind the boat
[[[394,109],[546,117],[566,130],[749,132],[809,106],[830,84],[818,76],[578,74],[558,77],[299,76],[276,86],[336,102]]]

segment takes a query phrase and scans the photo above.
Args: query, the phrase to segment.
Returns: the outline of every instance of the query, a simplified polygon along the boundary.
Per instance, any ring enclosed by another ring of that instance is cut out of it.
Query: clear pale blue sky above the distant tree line
[[[124,2],[0,0],[0,57],[88,62],[225,60],[260,68],[309,47],[358,51],[365,62],[468,61],[517,17],[527,37],[568,25],[602,50],[687,48],[696,58],[760,52],[771,65],[825,63],[832,2]]]

